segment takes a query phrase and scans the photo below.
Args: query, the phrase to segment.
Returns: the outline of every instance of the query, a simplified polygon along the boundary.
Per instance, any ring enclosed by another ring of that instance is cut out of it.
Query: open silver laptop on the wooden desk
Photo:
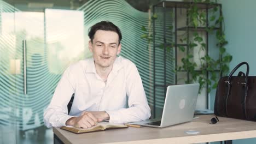
[[[131,124],[163,128],[192,121],[194,117],[199,83],[167,87],[162,118],[148,119]]]

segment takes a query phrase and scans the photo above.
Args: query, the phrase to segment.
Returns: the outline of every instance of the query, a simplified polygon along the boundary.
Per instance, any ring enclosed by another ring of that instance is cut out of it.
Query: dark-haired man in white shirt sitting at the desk
[[[137,68],[128,59],[117,57],[121,52],[120,29],[101,21],[88,35],[93,58],[65,70],[44,112],[46,126],[90,128],[103,120],[127,123],[148,119],[150,108]],[[67,104],[73,93],[68,115]]]

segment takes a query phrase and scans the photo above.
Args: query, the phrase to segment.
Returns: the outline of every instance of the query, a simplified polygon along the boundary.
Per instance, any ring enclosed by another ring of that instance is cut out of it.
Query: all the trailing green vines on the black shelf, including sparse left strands
[[[211,23],[211,25],[206,26],[206,10],[200,9],[197,6],[198,3],[206,3],[213,7],[211,11],[211,16],[208,19],[208,23]],[[187,55],[181,59],[182,65],[177,66],[176,70],[174,71],[175,73],[179,73],[181,71],[187,72],[190,76],[187,80],[185,80],[185,83],[199,82],[200,91],[203,87],[206,87],[207,85],[207,92],[210,92],[211,89],[216,88],[219,77],[228,74],[229,63],[232,60],[232,56],[229,55],[229,53],[227,53],[225,49],[225,45],[228,44],[228,41],[226,41],[223,31],[222,23],[224,18],[222,16],[222,10],[219,9],[220,7],[217,6],[218,5],[216,4],[216,2],[211,2],[210,0],[193,0],[189,4],[188,9],[188,25],[195,29],[195,31],[193,32],[193,37],[190,39],[180,39],[181,43],[185,42],[188,44],[188,48],[184,47],[183,45],[177,45],[177,49],[181,52],[187,52]],[[217,13],[218,11],[220,11],[220,13]],[[158,16],[156,14],[153,14],[151,20],[155,20],[157,19],[157,17]],[[199,27],[206,27],[206,31],[208,33],[216,33],[216,46],[219,49],[219,57],[217,59],[212,58],[206,53],[207,45],[205,41],[203,41],[203,36],[196,31]],[[173,26],[169,26],[169,28],[172,29]],[[149,31],[147,31],[146,27],[142,27],[142,31],[144,31],[145,33],[142,35],[141,38],[147,39],[148,44],[151,44],[153,37],[152,34],[149,32],[152,32],[152,27],[148,27],[148,30]],[[166,47],[167,52],[170,52],[170,47],[175,47],[175,44],[171,43],[171,46]],[[200,67],[198,63],[194,61],[194,55],[191,52],[195,49],[195,47],[199,47],[199,53],[205,52],[205,55],[199,55]],[[164,46],[162,46],[162,48],[164,48]],[[217,74],[217,72],[219,74]]]

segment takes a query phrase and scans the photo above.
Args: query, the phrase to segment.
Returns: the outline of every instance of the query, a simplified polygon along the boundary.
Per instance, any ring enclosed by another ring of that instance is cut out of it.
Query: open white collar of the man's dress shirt
[[[121,64],[121,57],[115,58],[115,61],[113,63],[112,71],[113,73],[117,73],[119,69],[123,68],[123,65]],[[85,69],[85,73],[95,73],[96,74],[96,68],[94,63],[94,58],[88,59],[88,65]]]

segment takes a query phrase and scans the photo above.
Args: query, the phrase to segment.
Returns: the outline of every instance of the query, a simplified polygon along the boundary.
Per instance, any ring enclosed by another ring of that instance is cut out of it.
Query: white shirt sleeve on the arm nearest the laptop
[[[148,119],[150,108],[146,93],[144,91],[141,76],[135,64],[131,63],[126,68],[126,94],[128,97],[128,108],[117,111],[106,111],[110,123],[129,123]]]

